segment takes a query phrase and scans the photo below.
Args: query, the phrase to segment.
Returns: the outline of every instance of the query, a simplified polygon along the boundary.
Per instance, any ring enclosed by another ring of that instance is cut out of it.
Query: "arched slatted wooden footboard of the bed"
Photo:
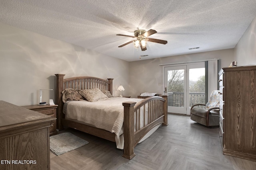
[[[150,97],[136,102],[124,102],[124,154],[123,157],[132,159],[135,156],[134,147],[153,127],[162,123],[168,125],[167,96]],[[136,105],[135,105],[136,104]],[[143,116],[140,117],[140,108]],[[146,109],[148,110],[146,112]],[[147,118],[147,120],[145,120]],[[140,125],[140,119],[144,119]],[[135,123],[133,123],[135,122]],[[145,124],[147,122],[147,124]]]

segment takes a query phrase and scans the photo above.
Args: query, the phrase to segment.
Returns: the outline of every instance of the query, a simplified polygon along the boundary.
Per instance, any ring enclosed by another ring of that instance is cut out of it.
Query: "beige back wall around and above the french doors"
[[[162,94],[163,68],[159,66],[159,64],[204,61],[210,59],[220,59],[220,68],[227,67],[234,61],[234,50],[226,49],[130,62],[129,95],[136,97],[143,92],[157,92],[158,94]]]

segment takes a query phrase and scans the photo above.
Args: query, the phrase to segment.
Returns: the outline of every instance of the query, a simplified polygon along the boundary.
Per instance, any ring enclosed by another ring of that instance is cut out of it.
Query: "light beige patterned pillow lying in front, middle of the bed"
[[[79,93],[89,102],[96,102],[98,100],[108,100],[108,96],[102,93],[99,88],[81,90]]]

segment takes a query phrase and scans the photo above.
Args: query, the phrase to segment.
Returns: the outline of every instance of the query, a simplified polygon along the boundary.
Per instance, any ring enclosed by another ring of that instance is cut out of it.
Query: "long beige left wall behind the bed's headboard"
[[[128,86],[129,63],[56,39],[0,23],[0,100],[18,106],[54,99],[55,75],[114,78],[114,96],[119,84]],[[128,90],[122,94],[128,95]]]

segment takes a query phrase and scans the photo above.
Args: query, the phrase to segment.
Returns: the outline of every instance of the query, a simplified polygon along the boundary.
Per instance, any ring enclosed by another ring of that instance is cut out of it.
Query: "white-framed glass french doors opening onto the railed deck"
[[[204,62],[164,66],[164,95],[168,112],[190,114],[193,104],[205,104]]]

